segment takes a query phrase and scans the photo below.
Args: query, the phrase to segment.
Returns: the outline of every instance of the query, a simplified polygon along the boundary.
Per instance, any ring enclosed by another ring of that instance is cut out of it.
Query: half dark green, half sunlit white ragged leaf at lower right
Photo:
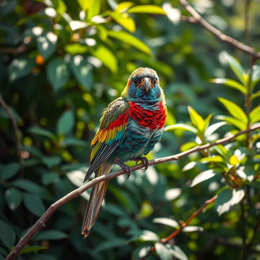
[[[220,216],[224,212],[228,212],[232,206],[241,202],[241,200],[244,198],[244,195],[244,190],[236,191],[236,189],[226,189],[221,191],[216,199],[218,215]]]

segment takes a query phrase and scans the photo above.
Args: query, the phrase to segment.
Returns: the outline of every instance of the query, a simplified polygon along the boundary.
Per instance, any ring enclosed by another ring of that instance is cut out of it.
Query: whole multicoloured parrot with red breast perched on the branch
[[[164,91],[159,77],[151,68],[138,68],[130,75],[121,97],[104,109],[99,129],[91,142],[90,166],[84,182],[95,173],[97,178],[110,173],[114,165],[125,170],[127,179],[131,168],[127,161],[141,161],[144,171],[149,166],[147,155],[163,133],[167,116]],[[108,180],[92,187],[82,225],[84,238],[96,222]]]

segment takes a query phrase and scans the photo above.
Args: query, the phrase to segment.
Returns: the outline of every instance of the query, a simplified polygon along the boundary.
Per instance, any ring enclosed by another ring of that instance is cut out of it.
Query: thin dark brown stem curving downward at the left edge
[[[20,176],[22,177],[23,176],[23,158],[22,158],[22,153],[21,153],[21,142],[20,142],[20,138],[19,138],[18,125],[17,125],[15,117],[12,113],[11,108],[5,103],[1,93],[0,93],[0,104],[8,113],[8,115],[11,119],[12,125],[14,127],[15,140],[16,140],[16,145],[17,145],[17,156],[19,158],[19,164],[20,164]]]

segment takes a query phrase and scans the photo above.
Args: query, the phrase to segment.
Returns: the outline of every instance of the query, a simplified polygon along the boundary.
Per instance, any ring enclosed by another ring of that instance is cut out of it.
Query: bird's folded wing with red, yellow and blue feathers
[[[103,112],[99,130],[91,143],[90,167],[84,182],[109,158],[116,146],[123,140],[128,118],[129,105],[122,97],[110,103],[108,108]]]

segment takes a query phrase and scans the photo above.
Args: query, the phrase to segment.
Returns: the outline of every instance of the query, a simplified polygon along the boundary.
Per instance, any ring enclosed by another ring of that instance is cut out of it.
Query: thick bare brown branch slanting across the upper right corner
[[[197,22],[204,27],[205,29],[207,29],[208,31],[210,31],[213,35],[215,35],[219,40],[229,43],[232,46],[236,47],[237,49],[240,49],[242,51],[244,51],[245,53],[249,53],[251,54],[255,60],[260,58],[260,52],[256,52],[254,48],[247,46],[245,44],[243,44],[242,42],[237,41],[236,39],[223,34],[220,30],[218,30],[217,28],[213,27],[211,24],[209,24],[208,22],[206,22],[199,14],[198,12],[192,8],[192,6],[190,6],[190,4],[186,1],[186,0],[179,0],[180,4],[193,16],[193,18],[195,18],[197,20]],[[185,21],[185,20],[182,20]],[[186,20],[188,22],[190,22],[189,20]]]

